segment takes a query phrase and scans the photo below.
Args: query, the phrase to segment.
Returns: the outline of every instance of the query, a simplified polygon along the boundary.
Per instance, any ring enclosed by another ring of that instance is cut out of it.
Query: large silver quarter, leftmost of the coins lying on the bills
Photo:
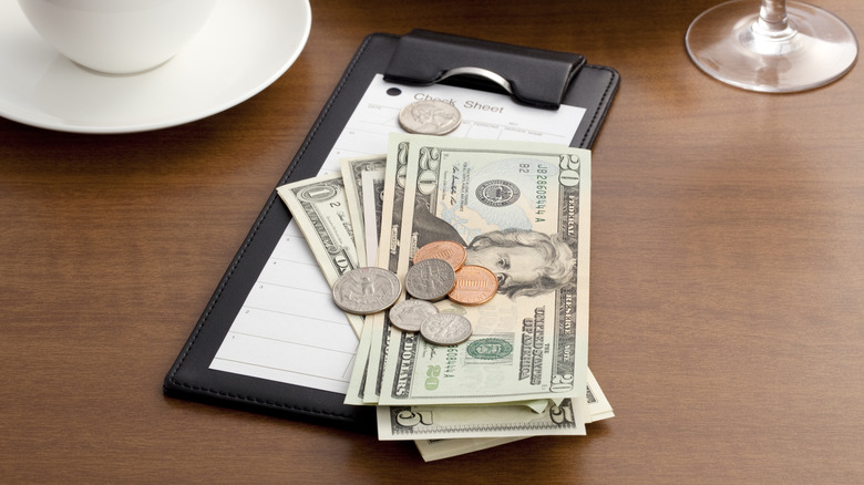
[[[392,307],[401,292],[395,275],[372,266],[340,276],[333,285],[333,301],[349,313],[370,314]]]

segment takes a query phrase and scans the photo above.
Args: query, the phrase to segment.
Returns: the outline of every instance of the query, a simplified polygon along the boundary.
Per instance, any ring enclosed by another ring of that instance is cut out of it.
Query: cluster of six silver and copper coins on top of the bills
[[[369,267],[339,277],[333,285],[333,301],[356,314],[390,309],[390,323],[402,331],[419,331],[438,345],[462,343],[471,337],[471,322],[460,314],[440,313],[431,302],[446,297],[473,306],[495,296],[495,275],[481,266],[465,265],[466,256],[457,242],[430,242],[418,249],[405,274],[405,291],[412,299],[395,303],[401,292],[399,279],[385,269]]]

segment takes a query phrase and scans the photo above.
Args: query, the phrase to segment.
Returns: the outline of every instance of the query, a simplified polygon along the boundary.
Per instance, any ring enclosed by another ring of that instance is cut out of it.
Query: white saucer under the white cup
[[[84,70],[0,0],[0,116],[75,133],[132,133],[227,110],[270,85],[297,60],[312,24],[308,0],[219,0],[174,59],[126,76]]]

